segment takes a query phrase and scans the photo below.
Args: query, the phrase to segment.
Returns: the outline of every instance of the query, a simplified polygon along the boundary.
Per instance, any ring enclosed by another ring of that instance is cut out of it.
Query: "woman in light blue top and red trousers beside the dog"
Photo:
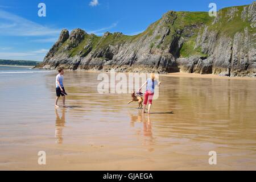
[[[147,101],[148,101],[148,112],[147,113],[150,114],[152,99],[153,99],[154,92],[155,92],[155,86],[156,85],[159,86],[161,84],[161,82],[158,83],[158,81],[155,80],[155,73],[151,73],[150,78],[148,78],[147,81],[144,82],[144,84],[141,86],[141,88],[139,88],[139,92],[141,92],[142,87],[146,84],[147,84],[147,87],[146,87],[146,93],[144,96],[143,113],[145,113],[145,108],[146,108]]]

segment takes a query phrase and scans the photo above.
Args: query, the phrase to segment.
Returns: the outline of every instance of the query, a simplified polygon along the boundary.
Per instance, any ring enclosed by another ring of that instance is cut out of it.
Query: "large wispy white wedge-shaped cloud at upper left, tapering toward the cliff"
[[[12,36],[52,36],[59,35],[60,30],[32,22],[7,11],[0,10],[0,35]]]

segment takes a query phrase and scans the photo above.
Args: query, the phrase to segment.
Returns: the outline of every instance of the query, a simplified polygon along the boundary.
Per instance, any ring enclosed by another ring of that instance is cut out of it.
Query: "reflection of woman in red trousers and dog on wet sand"
[[[154,144],[154,137],[152,134],[152,124],[151,124],[151,119],[150,115],[142,113],[140,110],[137,115],[130,114],[131,117],[131,122],[130,126],[135,127],[135,123],[139,123],[139,126],[137,127],[136,135],[139,140],[141,140],[142,137],[142,144],[143,145],[152,145]],[[143,127],[143,128],[142,128]],[[153,151],[154,148],[150,148],[150,151]]]

